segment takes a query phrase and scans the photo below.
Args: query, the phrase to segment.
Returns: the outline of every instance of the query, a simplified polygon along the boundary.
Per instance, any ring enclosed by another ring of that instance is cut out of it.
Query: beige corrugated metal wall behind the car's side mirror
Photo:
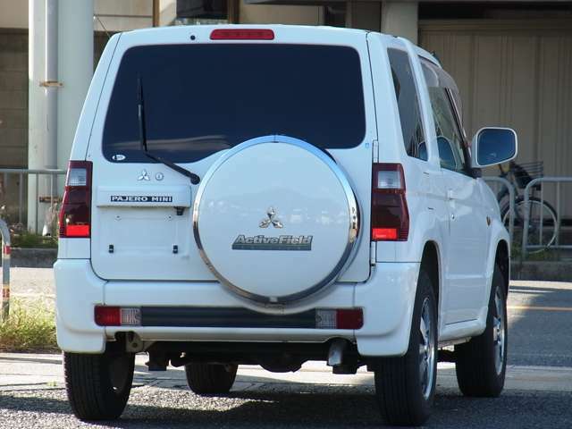
[[[517,162],[572,176],[572,21],[420,21],[419,39],[457,81],[469,138],[509,126]],[[572,200],[566,206],[572,216]]]

